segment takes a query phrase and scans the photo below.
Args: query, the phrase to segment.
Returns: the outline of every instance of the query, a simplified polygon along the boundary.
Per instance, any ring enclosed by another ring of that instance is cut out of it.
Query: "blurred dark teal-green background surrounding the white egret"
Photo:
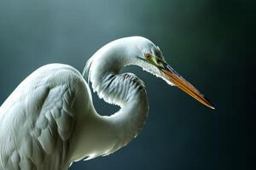
[[[107,42],[148,37],[217,109],[140,68],[125,68],[148,90],[142,133],[113,155],[71,169],[256,169],[254,14],[253,0],[1,0],[0,103],[41,65],[82,71]],[[118,110],[93,99],[99,113]]]

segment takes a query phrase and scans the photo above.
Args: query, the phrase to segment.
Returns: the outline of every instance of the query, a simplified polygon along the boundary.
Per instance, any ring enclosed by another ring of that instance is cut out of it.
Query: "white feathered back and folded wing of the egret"
[[[45,65],[21,82],[0,107],[0,170],[67,169],[77,94],[90,105],[86,82],[68,65]]]

